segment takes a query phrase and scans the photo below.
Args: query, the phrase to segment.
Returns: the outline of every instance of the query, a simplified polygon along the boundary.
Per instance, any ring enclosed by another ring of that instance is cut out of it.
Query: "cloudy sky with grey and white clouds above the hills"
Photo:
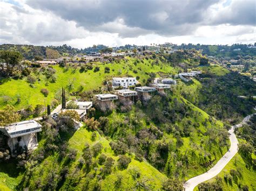
[[[255,0],[0,0],[0,44],[254,44]]]

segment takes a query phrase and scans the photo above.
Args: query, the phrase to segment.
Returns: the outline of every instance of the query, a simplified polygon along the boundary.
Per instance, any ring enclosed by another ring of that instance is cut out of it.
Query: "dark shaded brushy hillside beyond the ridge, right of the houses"
[[[225,121],[236,118],[238,122],[253,113],[252,106],[256,105],[256,100],[238,97],[256,95],[256,84],[252,79],[219,66],[198,69],[203,70],[203,74],[180,88],[181,95],[188,101]]]

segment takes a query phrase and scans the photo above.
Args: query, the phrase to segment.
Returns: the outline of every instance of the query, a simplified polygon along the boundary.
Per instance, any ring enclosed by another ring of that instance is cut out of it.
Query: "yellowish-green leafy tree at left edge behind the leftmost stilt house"
[[[18,122],[21,116],[15,112],[15,108],[11,105],[6,105],[4,110],[0,110],[0,126]]]

